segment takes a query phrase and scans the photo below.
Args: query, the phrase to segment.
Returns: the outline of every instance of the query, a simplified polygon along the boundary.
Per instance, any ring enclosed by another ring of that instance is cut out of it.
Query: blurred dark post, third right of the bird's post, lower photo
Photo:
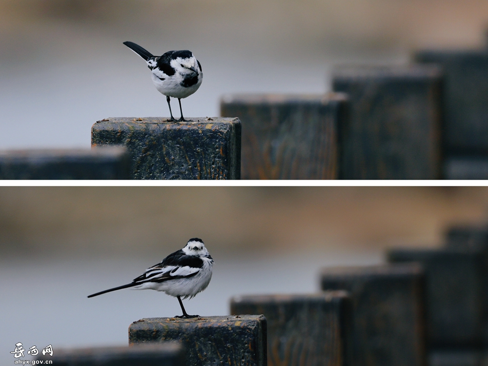
[[[426,273],[429,349],[481,347],[486,335],[486,255],[481,250],[392,249],[390,262],[418,262]]]

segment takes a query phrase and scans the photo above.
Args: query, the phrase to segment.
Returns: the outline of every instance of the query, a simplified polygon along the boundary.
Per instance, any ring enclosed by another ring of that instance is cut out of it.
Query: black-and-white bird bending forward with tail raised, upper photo
[[[185,121],[182,111],[182,98],[197,91],[202,84],[202,65],[188,50],[168,51],[163,56],[154,56],[134,42],[123,42],[132,51],[141,56],[152,71],[152,80],[156,89],[166,96],[171,121],[175,121],[171,112],[169,98],[178,98],[180,103],[180,121]]]

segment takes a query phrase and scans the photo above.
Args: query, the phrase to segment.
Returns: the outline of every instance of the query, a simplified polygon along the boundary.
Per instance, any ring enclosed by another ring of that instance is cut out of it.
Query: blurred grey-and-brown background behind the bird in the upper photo
[[[0,0],[0,148],[88,147],[97,120],[167,116],[123,41],[192,50],[204,79],[183,110],[205,117],[226,93],[323,93],[336,63],[484,47],[487,16],[484,0]]]

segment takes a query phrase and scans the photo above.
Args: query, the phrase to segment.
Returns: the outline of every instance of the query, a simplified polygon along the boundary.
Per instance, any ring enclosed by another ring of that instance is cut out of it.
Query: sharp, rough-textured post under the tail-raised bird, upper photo
[[[107,118],[92,126],[92,146],[123,145],[132,179],[240,179],[237,118]]]

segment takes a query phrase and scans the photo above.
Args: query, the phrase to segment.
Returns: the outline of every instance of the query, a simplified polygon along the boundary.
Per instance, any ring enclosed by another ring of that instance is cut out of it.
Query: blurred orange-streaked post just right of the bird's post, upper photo
[[[242,179],[335,179],[346,97],[229,95],[222,116],[243,124]]]

